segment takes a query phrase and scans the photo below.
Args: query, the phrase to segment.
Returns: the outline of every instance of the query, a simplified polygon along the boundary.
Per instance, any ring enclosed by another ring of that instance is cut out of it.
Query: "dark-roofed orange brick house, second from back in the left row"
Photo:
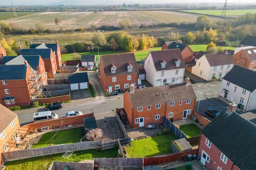
[[[32,48],[32,49],[20,49],[20,55],[40,55],[44,61],[45,71],[47,72],[47,78],[52,79],[53,74],[57,72],[57,63],[55,56],[51,48]]]

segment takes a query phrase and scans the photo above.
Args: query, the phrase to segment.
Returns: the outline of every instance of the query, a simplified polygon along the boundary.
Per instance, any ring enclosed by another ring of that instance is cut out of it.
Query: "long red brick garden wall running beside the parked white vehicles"
[[[22,127],[40,129],[44,126],[50,126],[51,128],[58,128],[60,125],[61,126],[77,125],[77,124],[84,123],[83,122],[84,117],[91,117],[91,116],[94,116],[94,113],[84,114],[84,115],[80,115],[80,116],[63,117],[63,118],[42,121],[42,122],[34,122],[34,123],[26,124]]]

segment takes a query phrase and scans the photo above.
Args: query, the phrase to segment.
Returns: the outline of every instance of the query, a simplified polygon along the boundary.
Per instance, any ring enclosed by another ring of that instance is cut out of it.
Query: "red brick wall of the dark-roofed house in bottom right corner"
[[[201,158],[202,151],[204,151],[210,157],[209,163],[207,161],[205,162],[205,167],[207,169],[217,169],[219,166],[223,170],[231,170],[233,162],[231,162],[230,159],[227,159],[227,164],[223,163],[220,159],[221,151],[214,145],[214,143],[211,143],[211,148],[207,147],[205,145],[205,141],[206,137],[201,133],[200,143],[198,147],[198,156]]]

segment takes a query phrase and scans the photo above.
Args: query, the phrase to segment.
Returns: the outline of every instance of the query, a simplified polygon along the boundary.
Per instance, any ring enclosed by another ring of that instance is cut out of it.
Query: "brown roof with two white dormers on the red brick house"
[[[105,76],[139,73],[133,53],[101,55]],[[128,72],[127,65],[132,65],[132,71]],[[111,73],[111,67],[116,67],[116,73]]]

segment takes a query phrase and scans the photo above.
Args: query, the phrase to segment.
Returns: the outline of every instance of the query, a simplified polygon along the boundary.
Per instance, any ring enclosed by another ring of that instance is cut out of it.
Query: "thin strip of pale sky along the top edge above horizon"
[[[13,0],[14,5],[51,5],[51,4],[83,4],[83,5],[90,5],[90,4],[160,4],[160,3],[220,3],[223,4],[225,0]],[[242,4],[252,4],[256,3],[254,0],[228,0],[229,4],[234,3],[242,3]],[[0,0],[0,5],[10,5],[11,0]]]

